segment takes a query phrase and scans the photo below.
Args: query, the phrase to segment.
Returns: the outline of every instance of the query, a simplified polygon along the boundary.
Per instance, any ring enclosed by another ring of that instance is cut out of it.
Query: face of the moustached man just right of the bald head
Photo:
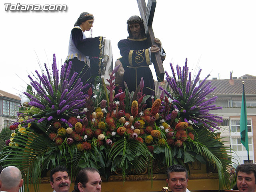
[[[50,182],[56,192],[68,192],[70,188],[70,178],[66,171],[58,171],[52,175],[53,182]]]

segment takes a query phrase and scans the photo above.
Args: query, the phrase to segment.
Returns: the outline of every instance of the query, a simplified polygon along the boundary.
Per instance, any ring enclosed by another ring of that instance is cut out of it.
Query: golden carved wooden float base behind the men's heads
[[[40,191],[51,192],[49,178],[42,178],[44,184],[40,184]],[[161,191],[166,184],[166,174],[153,174],[152,183],[148,175],[129,175],[126,176],[126,181],[122,182],[122,176],[110,176],[108,182],[102,178],[102,192],[156,192]],[[47,181],[49,181],[47,183]],[[190,191],[200,190],[218,190],[218,175],[217,174],[191,174],[188,180],[188,189]],[[30,187],[31,192],[34,192],[33,186]],[[74,183],[71,184],[70,192],[74,189]]]

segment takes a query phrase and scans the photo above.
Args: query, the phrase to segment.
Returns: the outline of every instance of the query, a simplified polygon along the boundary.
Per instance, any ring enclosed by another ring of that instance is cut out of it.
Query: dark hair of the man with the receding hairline
[[[78,189],[78,183],[82,183],[83,187],[86,188],[86,183],[88,182],[88,176],[87,176],[87,172],[98,172],[100,174],[100,172],[95,169],[95,168],[92,168],[92,167],[86,167],[82,170],[80,170],[76,176],[76,180],[75,180],[75,183],[74,183],[74,190],[72,192],[79,192],[79,189]]]

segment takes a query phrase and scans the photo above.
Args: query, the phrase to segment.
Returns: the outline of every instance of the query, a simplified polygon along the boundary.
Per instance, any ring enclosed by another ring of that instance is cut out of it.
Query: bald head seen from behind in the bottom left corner
[[[18,192],[23,184],[21,172],[17,167],[8,166],[0,174],[0,192]]]

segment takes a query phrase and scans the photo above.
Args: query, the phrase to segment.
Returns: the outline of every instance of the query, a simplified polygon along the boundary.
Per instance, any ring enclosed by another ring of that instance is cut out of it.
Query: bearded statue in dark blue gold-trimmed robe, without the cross
[[[122,67],[119,67],[117,72],[120,72],[120,76],[122,76],[124,70],[122,88],[124,89],[124,82],[126,82],[129,91],[135,91],[141,77],[143,77],[143,94],[154,95],[154,79],[149,65],[152,64],[151,55],[154,53],[160,52],[161,58],[164,60],[165,53],[162,49],[162,43],[155,38],[154,41],[157,45],[149,45],[143,20],[139,16],[131,16],[127,20],[127,30],[128,38],[118,42],[122,58],[119,58],[115,63],[116,66],[122,63]]]

